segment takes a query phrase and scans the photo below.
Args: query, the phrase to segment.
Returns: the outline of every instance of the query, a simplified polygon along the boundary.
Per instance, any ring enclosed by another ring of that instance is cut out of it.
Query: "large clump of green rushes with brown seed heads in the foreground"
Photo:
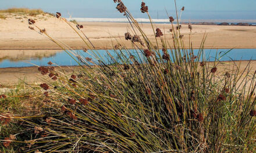
[[[205,38],[194,52],[191,39],[179,38],[179,20],[177,25],[170,20],[170,37],[162,37],[157,30],[152,41],[123,2],[114,2],[132,26],[120,39],[129,40],[133,49],[113,41],[123,49],[106,50],[109,56],[103,59],[81,37],[90,49],[81,57],[52,40],[79,58],[74,59],[80,69],[74,70],[76,75],[60,71],[58,81],[45,76],[42,88],[56,88],[44,97],[49,105],[44,106],[43,115],[33,120],[20,118],[33,133],[29,139],[33,143],[24,152],[255,152],[256,74],[247,74],[248,68],[239,70],[237,64],[225,74],[218,57],[205,60]],[[82,36],[76,25],[60,20]],[[151,25],[155,32],[157,27]],[[56,73],[48,67],[39,70]]]

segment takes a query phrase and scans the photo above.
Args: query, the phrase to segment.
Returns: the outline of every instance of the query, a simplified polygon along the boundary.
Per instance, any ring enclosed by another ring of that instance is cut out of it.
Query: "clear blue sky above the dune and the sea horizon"
[[[123,0],[134,17],[144,17],[140,0]],[[165,9],[175,14],[174,0],[144,0],[152,18],[165,19]],[[177,0],[177,8],[185,6],[183,19],[255,19],[256,0]],[[46,12],[61,12],[69,17],[122,18],[112,0],[0,0],[0,9],[40,8]]]

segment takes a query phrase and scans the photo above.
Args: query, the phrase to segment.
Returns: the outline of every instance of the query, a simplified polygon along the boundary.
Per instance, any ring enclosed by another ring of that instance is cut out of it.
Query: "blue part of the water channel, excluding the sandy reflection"
[[[215,56],[221,57],[223,53],[227,52],[229,49],[204,49],[205,58],[209,59],[209,61],[214,61]],[[113,50],[108,50],[113,56],[116,54],[113,53]],[[0,50],[1,52],[1,50]],[[87,53],[84,53],[82,50],[76,50],[78,54],[83,57],[90,57]],[[135,50],[132,50],[135,52]],[[91,51],[88,51],[91,53]],[[106,50],[98,50],[98,53],[103,57],[104,60],[108,60],[108,54]],[[198,53],[198,49],[194,49],[194,54]],[[227,54],[225,54],[220,61],[230,61],[230,60],[256,60],[256,49],[233,49]],[[54,56],[51,57],[43,57],[40,59],[37,58],[29,58],[23,61],[10,61],[10,60],[3,60],[0,61],[0,68],[6,67],[31,67],[35,65],[48,65],[47,63],[51,61],[52,63],[58,65],[78,65],[75,60],[73,60],[66,52],[58,52]],[[33,63],[33,64],[31,64]]]

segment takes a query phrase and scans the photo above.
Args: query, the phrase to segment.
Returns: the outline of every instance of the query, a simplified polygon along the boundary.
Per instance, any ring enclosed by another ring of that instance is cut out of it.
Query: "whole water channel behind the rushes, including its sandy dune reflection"
[[[210,61],[214,61],[214,57],[219,54],[223,54],[229,49],[205,49],[205,57],[210,57]],[[84,57],[91,56],[88,53],[84,53],[82,50],[76,50],[78,54]],[[116,56],[112,50],[109,52]],[[136,50],[131,50],[136,52]],[[138,51],[140,52],[140,51]],[[105,50],[98,50],[98,53],[107,60],[107,53]],[[194,54],[197,54],[198,50],[194,50]],[[233,49],[229,53],[222,57],[221,61],[229,60],[256,60],[256,49]],[[0,68],[4,67],[30,67],[35,65],[47,65],[48,61],[56,63],[58,65],[77,65],[66,52],[62,50],[0,50]],[[33,63],[33,64],[31,64]]]

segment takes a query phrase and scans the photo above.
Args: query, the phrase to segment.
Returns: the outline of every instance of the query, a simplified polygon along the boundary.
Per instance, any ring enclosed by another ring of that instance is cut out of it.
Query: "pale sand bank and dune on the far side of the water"
[[[45,28],[51,37],[74,49],[86,46],[76,32],[60,19],[52,16],[12,16],[6,20],[0,19],[0,49],[59,49],[54,42],[49,41],[38,32],[30,30],[27,18],[37,19],[35,25]],[[131,48],[130,41],[124,39],[125,32],[127,29],[130,31],[131,28],[129,23],[87,22],[79,24],[84,25],[82,30],[98,49],[112,48],[117,43],[116,39],[120,43],[124,43],[127,48]],[[73,26],[75,27],[74,24]],[[151,25],[143,24],[141,26],[154,41]],[[171,28],[170,24],[154,24],[154,26],[161,28],[162,32],[166,34],[166,38],[172,42],[172,36],[168,32]],[[256,48],[256,27],[253,26],[193,25],[194,48],[200,47],[204,33],[207,34],[205,48]],[[185,46],[188,46],[189,29],[187,25],[182,25],[181,34],[184,35]]]

